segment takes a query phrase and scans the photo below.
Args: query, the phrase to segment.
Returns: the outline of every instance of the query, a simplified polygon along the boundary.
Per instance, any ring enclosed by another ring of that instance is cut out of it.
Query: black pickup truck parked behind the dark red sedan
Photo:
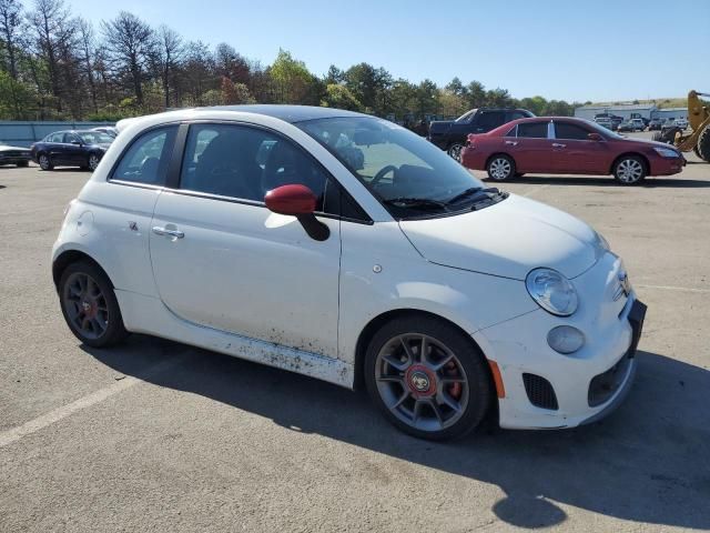
[[[462,148],[469,133],[486,133],[516,119],[535,117],[527,109],[471,109],[456,120],[435,121],[429,124],[428,140],[460,161]]]

